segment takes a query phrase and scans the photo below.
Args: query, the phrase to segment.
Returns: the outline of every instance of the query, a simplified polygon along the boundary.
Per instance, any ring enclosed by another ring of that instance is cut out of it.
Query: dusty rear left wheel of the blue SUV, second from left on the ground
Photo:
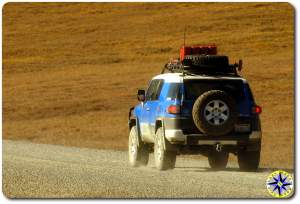
[[[155,166],[159,170],[174,169],[176,163],[176,152],[164,149],[163,130],[159,128],[155,135],[154,143]]]

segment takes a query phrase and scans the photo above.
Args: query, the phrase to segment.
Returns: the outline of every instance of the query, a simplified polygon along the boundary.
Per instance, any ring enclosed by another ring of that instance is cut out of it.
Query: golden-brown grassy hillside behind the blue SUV
[[[187,44],[242,58],[263,107],[263,167],[294,160],[294,8],[287,3],[7,3],[3,138],[127,148],[138,88]]]

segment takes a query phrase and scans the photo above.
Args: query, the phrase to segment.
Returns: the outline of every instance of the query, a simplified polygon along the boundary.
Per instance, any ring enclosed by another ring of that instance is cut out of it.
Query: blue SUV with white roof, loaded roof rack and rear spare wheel
[[[237,73],[242,61],[228,61],[214,45],[183,46],[180,59],[166,64],[147,91],[138,90],[140,104],[129,111],[131,166],[147,165],[154,150],[159,170],[173,169],[179,154],[203,154],[220,170],[229,153],[241,170],[257,170],[261,108]]]

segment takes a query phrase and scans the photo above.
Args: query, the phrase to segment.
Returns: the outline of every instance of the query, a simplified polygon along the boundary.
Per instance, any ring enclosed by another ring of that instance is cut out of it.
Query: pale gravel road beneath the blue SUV
[[[127,152],[3,141],[3,192],[10,198],[270,198],[271,170],[213,172],[205,159],[179,156],[176,168],[132,168]]]

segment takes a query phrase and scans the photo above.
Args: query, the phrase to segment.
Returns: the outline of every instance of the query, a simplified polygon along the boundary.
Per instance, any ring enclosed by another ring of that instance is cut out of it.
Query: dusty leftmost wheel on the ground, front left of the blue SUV
[[[129,133],[128,157],[133,167],[146,166],[149,161],[149,146],[139,141],[136,126]]]

